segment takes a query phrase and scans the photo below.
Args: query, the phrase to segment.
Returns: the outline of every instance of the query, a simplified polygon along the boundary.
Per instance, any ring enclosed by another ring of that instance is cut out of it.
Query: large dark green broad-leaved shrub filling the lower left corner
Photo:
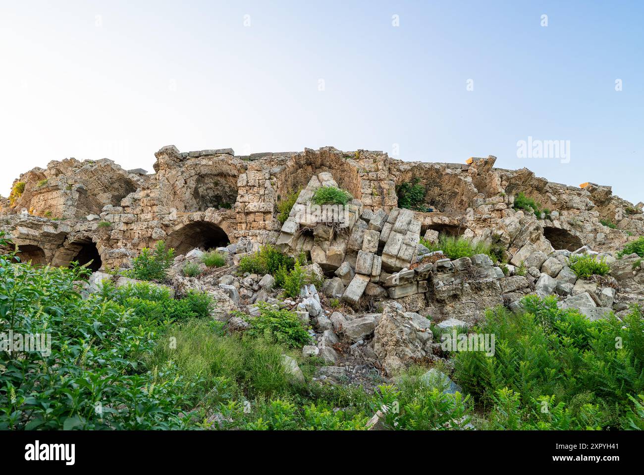
[[[156,325],[116,302],[82,300],[82,267],[35,268],[0,258],[0,320],[49,334],[51,353],[0,353],[0,429],[180,429],[181,378],[146,371]]]

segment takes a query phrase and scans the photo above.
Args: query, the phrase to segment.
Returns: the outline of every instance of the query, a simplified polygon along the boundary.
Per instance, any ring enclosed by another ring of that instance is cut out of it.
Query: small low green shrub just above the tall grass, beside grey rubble
[[[298,289],[299,291],[299,289]],[[310,342],[310,335],[299,317],[286,309],[277,309],[259,302],[260,315],[252,318],[246,333],[261,336],[289,347],[301,347]]]

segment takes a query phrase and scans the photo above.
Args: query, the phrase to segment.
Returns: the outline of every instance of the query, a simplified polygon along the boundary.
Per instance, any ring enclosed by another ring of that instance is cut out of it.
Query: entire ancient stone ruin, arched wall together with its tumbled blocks
[[[426,316],[443,327],[471,325],[486,308],[512,308],[536,293],[557,295],[562,305],[601,318],[644,299],[636,257],[615,258],[626,242],[644,235],[642,205],[612,195],[610,186],[549,182],[525,168],[494,168],[492,156],[455,164],[332,147],[239,156],[231,149],[182,153],[175,146],[155,155],[155,173],[123,170],[108,159],[53,160],[33,168],[3,199],[0,229],[23,260],[52,266],[77,261],[93,271],[129,267],[158,240],[176,249],[177,265],[190,260],[193,249],[221,249],[229,267],[202,280],[175,273],[174,284],[178,293],[216,293],[222,318],[230,309],[252,315],[256,302],[276,301],[270,278],[234,275],[240,258],[263,244],[303,253],[323,287],[303,287],[301,301],[284,302],[316,325],[318,344],[305,347],[305,354],[322,351],[337,362],[339,355],[325,345],[337,333],[363,345],[363,356],[378,358],[386,371],[432,353]],[[426,191],[415,210],[399,207],[397,189],[405,183]],[[343,217],[310,222],[307,206],[321,186],[352,195]],[[289,217],[280,222],[278,204],[298,190]],[[547,212],[515,209],[520,193]],[[436,242],[440,235],[493,245],[507,265],[484,254],[450,260],[419,244],[421,237]],[[571,253],[609,260],[614,282],[577,279],[568,266]],[[96,275],[93,282],[109,276]],[[343,302],[345,315],[322,309],[320,294]],[[370,313],[365,305],[375,308],[374,302],[381,309]]]

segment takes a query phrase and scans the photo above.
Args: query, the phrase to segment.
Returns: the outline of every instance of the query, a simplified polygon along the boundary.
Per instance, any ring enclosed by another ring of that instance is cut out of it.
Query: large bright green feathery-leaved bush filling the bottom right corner
[[[630,396],[644,392],[641,309],[623,321],[591,322],[576,310],[558,309],[554,297],[527,296],[522,304],[523,315],[488,310],[473,330],[495,335],[494,356],[455,354],[457,381],[480,407],[493,408],[491,428],[631,427],[637,408]]]

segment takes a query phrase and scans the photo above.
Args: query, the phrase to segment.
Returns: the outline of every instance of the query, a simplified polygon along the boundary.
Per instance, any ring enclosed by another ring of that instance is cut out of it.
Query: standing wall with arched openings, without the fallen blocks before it
[[[140,249],[161,239],[182,250],[240,238],[276,243],[279,200],[329,173],[352,193],[361,213],[382,211],[387,217],[397,209],[396,186],[419,179],[428,190],[425,204],[433,208],[413,212],[420,235],[431,231],[496,240],[509,257],[527,244],[549,251],[549,239],[562,249],[583,242],[601,250],[629,240],[622,229],[644,234],[641,209],[614,197],[609,186],[582,189],[548,182],[526,169],[493,168],[492,156],[441,164],[332,147],[239,156],[231,149],[180,152],[174,146],[155,155],[153,174],[122,170],[108,159],[53,160],[44,169],[23,173],[16,180],[25,183],[23,194],[0,206],[2,229],[19,245],[39,247],[44,261],[56,264],[64,264],[79,242],[96,247],[102,266],[128,264]],[[519,192],[550,208],[550,217],[515,211]],[[602,219],[618,229],[603,226]],[[310,242],[312,249],[316,236],[309,234],[301,242]],[[357,258],[359,249],[349,244],[350,239],[346,255]],[[42,258],[37,249],[28,249]]]

